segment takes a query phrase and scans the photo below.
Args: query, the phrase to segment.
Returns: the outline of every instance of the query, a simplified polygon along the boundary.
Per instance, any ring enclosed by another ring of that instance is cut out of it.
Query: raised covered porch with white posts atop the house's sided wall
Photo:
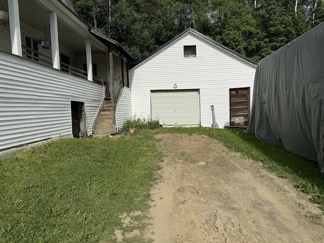
[[[133,57],[117,42],[93,30],[64,1],[5,0],[0,52],[105,86],[118,97],[129,85]]]

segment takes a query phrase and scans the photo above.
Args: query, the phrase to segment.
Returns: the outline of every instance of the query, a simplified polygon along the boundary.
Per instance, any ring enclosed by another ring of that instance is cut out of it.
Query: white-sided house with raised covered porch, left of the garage
[[[80,19],[71,0],[1,6],[0,151],[91,135],[105,97],[129,85],[132,56]]]

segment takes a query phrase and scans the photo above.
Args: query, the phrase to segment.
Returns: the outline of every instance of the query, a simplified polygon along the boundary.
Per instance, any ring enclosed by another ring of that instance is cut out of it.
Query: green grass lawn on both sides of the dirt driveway
[[[162,157],[156,133],[216,138],[311,193],[324,212],[324,176],[316,163],[243,130],[157,129],[112,139],[61,139],[0,160],[0,242],[116,242],[119,216],[149,208]],[[132,227],[143,229],[143,217]]]

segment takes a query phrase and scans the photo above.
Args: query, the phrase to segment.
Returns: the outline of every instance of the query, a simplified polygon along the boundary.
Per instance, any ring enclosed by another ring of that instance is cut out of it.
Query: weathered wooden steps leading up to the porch
[[[93,137],[102,138],[114,134],[112,101],[105,101],[95,127]]]

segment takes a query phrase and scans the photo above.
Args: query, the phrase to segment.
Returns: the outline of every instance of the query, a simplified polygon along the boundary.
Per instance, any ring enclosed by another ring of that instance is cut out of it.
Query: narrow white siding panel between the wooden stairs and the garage
[[[116,107],[116,128],[123,127],[124,121],[132,116],[131,90],[123,88]]]

